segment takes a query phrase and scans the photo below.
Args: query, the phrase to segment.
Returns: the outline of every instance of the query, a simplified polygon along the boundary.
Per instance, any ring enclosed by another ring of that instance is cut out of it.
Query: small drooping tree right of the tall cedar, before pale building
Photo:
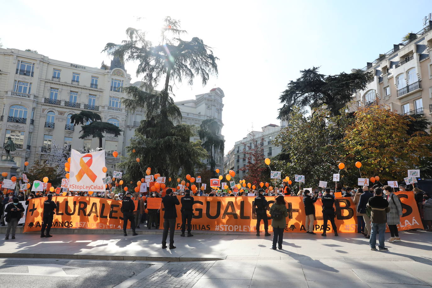
[[[210,170],[214,171],[216,161],[213,153],[219,150],[223,153],[225,148],[225,140],[219,136],[219,123],[215,118],[203,120],[198,130],[198,135],[201,141],[203,141],[203,147],[207,150],[210,156]]]

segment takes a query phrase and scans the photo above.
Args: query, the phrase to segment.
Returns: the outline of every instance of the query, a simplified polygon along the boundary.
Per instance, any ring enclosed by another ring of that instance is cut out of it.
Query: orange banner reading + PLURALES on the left
[[[46,199],[29,200],[24,232],[41,230]],[[123,229],[121,201],[83,196],[54,196],[53,201],[57,204],[53,228]],[[134,203],[137,210],[138,201]],[[130,222],[127,228],[130,228]]]

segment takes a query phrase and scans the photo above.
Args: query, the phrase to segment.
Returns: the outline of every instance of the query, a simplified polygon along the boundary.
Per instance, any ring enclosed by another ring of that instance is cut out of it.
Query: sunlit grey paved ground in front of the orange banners
[[[97,287],[432,285],[429,232],[402,232],[403,241],[386,243],[387,252],[371,251],[360,234],[284,236],[283,250],[274,251],[269,249],[272,237],[246,234],[176,235],[175,250],[162,249],[159,234],[57,234],[49,239],[17,234],[0,241],[0,278],[20,283],[26,277],[34,287],[62,287],[59,279],[72,281],[64,274],[79,279],[75,287],[93,287],[88,284],[97,277]],[[52,286],[43,285],[46,276],[31,275],[35,269],[28,265],[54,269]]]

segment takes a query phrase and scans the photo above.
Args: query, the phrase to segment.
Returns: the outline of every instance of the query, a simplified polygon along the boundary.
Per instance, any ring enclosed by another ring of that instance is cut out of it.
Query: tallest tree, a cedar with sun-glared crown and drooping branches
[[[182,40],[180,35],[184,32],[178,20],[166,17],[159,44],[147,40],[146,32],[127,28],[127,40],[105,46],[105,52],[122,61],[138,61],[137,76],[143,75],[142,89],[127,87],[128,97],[122,99],[129,111],[147,111],[146,120],[141,121],[135,139],[127,147],[130,154],[121,163],[135,179],[142,175],[140,163],[167,177],[179,170],[193,175],[200,167],[200,159],[206,157],[201,141],[190,141],[196,135],[196,127],[180,124],[181,112],[170,95],[170,81],[186,80],[191,85],[194,77],[200,76],[205,85],[211,74],[217,74],[217,58],[200,38]],[[158,92],[155,87],[162,80],[163,88]],[[135,161],[137,157],[140,163]]]

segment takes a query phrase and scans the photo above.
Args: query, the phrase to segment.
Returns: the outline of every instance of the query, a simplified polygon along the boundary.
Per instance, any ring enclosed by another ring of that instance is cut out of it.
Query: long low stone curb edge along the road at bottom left
[[[152,257],[152,256],[115,256],[115,255],[81,255],[81,254],[38,254],[38,253],[0,253],[0,258],[56,258],[56,259],[86,259],[86,260],[144,260],[144,261],[216,261],[223,258],[212,257]]]

